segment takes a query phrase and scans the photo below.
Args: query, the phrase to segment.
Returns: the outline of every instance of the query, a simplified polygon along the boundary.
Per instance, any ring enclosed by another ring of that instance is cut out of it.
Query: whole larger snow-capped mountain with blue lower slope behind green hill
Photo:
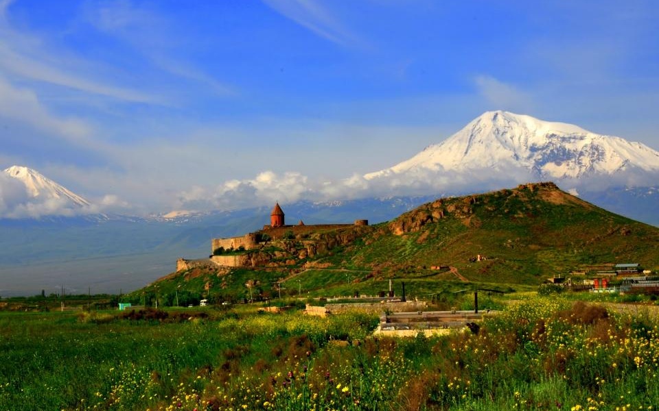
[[[373,186],[406,187],[411,194],[425,195],[553,181],[607,210],[659,225],[659,213],[652,210],[659,201],[658,151],[510,112],[485,112],[443,142],[364,177]]]

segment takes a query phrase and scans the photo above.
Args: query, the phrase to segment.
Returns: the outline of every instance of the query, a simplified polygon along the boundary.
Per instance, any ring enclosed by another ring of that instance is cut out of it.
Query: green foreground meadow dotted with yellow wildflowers
[[[1,410],[654,410],[647,309],[529,297],[477,334],[256,305],[1,312]]]

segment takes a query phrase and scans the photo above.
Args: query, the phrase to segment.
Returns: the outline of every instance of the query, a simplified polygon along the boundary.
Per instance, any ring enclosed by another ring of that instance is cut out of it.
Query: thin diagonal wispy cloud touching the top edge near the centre
[[[262,0],[270,8],[338,45],[363,47],[364,42],[314,0]]]

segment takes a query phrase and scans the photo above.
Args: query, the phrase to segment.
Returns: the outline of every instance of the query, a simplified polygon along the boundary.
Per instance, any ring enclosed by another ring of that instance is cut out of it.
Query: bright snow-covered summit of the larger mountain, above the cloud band
[[[616,173],[659,172],[659,152],[620,137],[567,123],[505,111],[485,112],[413,158],[366,179],[419,172],[524,169],[538,179],[579,179]]]

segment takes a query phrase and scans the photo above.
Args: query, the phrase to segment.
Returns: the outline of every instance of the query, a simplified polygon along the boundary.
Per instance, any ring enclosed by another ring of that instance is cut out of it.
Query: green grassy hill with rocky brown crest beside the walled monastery
[[[657,227],[597,208],[552,183],[438,199],[388,223],[337,228],[341,236],[350,240],[294,265],[194,269],[137,293],[173,295],[178,287],[234,300],[375,295],[394,279],[426,296],[461,288],[535,288],[594,264],[659,269]]]

